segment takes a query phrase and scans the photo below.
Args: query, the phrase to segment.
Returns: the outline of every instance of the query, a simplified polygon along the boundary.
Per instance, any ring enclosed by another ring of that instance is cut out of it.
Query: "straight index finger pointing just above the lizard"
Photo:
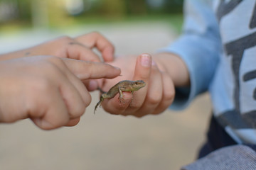
[[[103,62],[86,62],[82,60],[62,59],[68,69],[80,80],[112,79],[121,74],[121,70]]]

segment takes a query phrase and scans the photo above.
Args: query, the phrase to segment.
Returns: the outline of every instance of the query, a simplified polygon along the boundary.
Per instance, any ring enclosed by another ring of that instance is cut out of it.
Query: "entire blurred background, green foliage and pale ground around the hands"
[[[181,33],[180,0],[0,0],[0,54],[63,35],[98,31],[116,55],[154,53]],[[144,118],[93,114],[43,131],[30,120],[0,124],[0,169],[179,169],[196,159],[210,116],[208,94],[185,111]],[[14,106],[15,107],[15,106]]]

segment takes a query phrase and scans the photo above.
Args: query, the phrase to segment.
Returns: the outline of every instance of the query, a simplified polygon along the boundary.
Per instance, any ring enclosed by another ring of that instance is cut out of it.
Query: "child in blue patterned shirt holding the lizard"
[[[142,79],[146,87],[133,98],[125,93],[121,105],[118,96],[105,100],[105,111],[159,114],[169,106],[185,108],[209,91],[213,118],[199,157],[218,152],[184,169],[256,169],[255,6],[255,1],[186,1],[183,35],[176,42],[152,57],[110,62],[123,76],[105,80],[104,90],[121,79]]]

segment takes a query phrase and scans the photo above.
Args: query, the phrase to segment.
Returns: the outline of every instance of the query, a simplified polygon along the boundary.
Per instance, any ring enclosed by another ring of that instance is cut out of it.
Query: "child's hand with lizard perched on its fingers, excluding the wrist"
[[[118,81],[143,80],[146,86],[139,91],[124,92],[122,102],[119,95],[111,99],[105,99],[102,106],[105,111],[112,114],[134,115],[142,117],[148,114],[158,114],[166,110],[174,100],[174,82],[164,68],[159,69],[156,62],[152,62],[151,56],[140,55],[129,57],[117,57],[114,66],[122,69],[122,77],[105,79],[102,86],[104,91],[109,90]]]

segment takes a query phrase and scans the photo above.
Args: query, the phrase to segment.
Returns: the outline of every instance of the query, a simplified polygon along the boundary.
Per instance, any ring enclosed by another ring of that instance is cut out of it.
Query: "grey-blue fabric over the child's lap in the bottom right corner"
[[[256,152],[245,145],[224,147],[181,170],[255,170]]]

